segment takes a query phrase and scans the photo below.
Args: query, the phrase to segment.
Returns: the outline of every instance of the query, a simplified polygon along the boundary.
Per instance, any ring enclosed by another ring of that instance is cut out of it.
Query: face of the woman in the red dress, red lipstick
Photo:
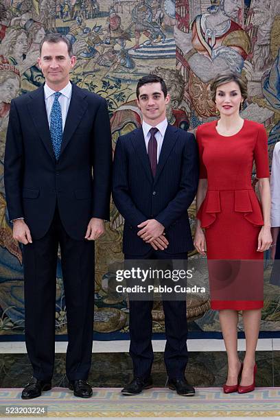
[[[236,82],[221,84],[216,89],[215,103],[221,115],[238,114],[243,98]]]

